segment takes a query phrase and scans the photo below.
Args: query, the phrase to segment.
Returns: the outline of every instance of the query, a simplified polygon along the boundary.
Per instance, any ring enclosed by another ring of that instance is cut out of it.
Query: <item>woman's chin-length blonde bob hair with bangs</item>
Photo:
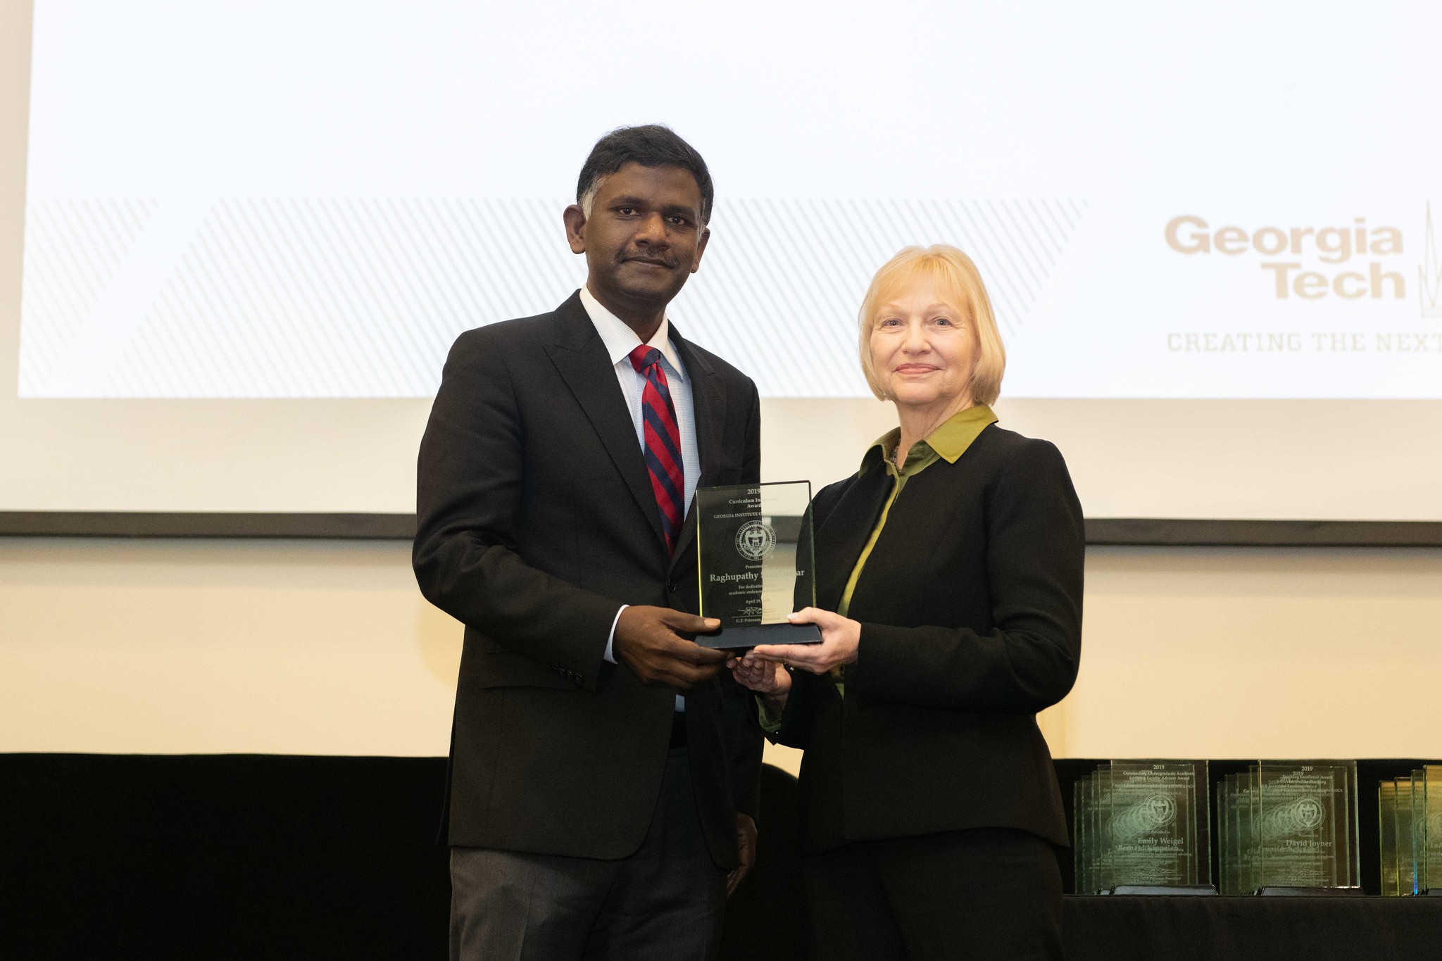
[[[877,366],[871,359],[871,333],[881,320],[880,310],[901,297],[907,288],[917,281],[929,280],[936,287],[942,300],[956,308],[976,337],[976,362],[972,366],[972,403],[995,403],[1001,393],[1001,379],[1007,373],[1007,347],[1001,343],[1001,333],[996,330],[996,317],[992,316],[991,298],[986,295],[986,285],[982,275],[966,256],[955,246],[933,243],[932,246],[908,246],[881,265],[877,275],[871,278],[871,287],[861,301],[861,372],[867,375],[867,386],[877,395],[878,401],[885,401],[887,393],[881,388],[877,376]]]

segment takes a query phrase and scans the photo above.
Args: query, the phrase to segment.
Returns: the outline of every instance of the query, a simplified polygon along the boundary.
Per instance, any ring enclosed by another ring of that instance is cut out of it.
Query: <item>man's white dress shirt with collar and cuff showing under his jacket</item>
[[[642,392],[646,389],[646,377],[632,366],[630,352],[640,346],[640,337],[626,326],[620,317],[606,310],[601,301],[596,300],[591,291],[581,287],[581,305],[596,324],[596,333],[606,344],[606,354],[616,369],[616,380],[622,386],[622,396],[626,398],[626,409],[630,411],[632,425],[636,428],[636,442],[642,451],[646,450],[646,424],[642,418]],[[660,352],[660,366],[666,372],[666,386],[671,388],[671,403],[676,408],[676,428],[681,432],[681,468],[685,471],[685,490],[682,491],[682,516],[691,507],[691,497],[696,493],[696,480],[701,477],[701,455],[696,452],[696,412],[691,398],[691,379],[686,376],[686,366],[681,363],[676,346],[671,343],[671,317],[663,317],[660,327],[649,341],[647,347]],[[616,663],[611,647],[616,644],[616,621],[620,620],[622,605],[611,621],[611,634],[606,641],[606,660]],[[686,700],[676,696],[676,710],[685,710]]]

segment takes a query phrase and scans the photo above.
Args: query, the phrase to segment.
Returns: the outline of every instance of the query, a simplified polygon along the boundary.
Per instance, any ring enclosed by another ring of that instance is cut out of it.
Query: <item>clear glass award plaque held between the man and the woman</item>
[[[696,576],[701,617],[721,630],[702,647],[815,644],[815,624],[787,615],[816,604],[810,481],[696,488]]]

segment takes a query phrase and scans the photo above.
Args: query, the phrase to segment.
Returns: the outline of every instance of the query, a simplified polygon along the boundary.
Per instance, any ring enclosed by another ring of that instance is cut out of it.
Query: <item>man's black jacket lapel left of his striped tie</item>
[[[636,441],[636,425],[632,422],[630,411],[626,409],[622,388],[616,383],[616,370],[606,353],[606,344],[581,304],[580,291],[561,304],[554,316],[558,336],[557,341],[547,347],[547,353],[585,411],[616,470],[650,522],[656,540],[665,545],[660,509],[656,507],[656,494],[650,488],[646,457]]]

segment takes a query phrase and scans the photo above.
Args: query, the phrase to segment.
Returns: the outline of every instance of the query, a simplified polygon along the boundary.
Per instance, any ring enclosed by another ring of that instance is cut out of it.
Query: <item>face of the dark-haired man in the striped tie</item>
[[[691,171],[637,163],[601,180],[591,216],[567,207],[565,226],[571,249],[585,254],[597,297],[650,308],[671,303],[696,272],[709,236]]]

